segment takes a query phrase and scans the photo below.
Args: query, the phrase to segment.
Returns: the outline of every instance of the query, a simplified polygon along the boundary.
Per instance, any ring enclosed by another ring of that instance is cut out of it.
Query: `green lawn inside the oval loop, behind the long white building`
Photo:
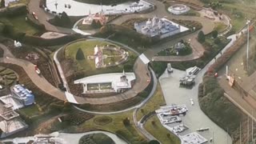
[[[124,64],[118,65],[118,66],[113,66],[113,67],[106,67],[106,68],[100,68],[96,70],[95,67],[95,62],[94,59],[90,60],[87,59],[88,56],[93,56],[94,55],[94,46],[105,46],[105,45],[113,45],[110,42],[102,42],[98,40],[83,40],[79,42],[75,42],[69,46],[66,46],[65,50],[65,57],[66,58],[71,58],[75,65],[77,71],[84,71],[87,76],[92,75],[92,74],[105,74],[105,73],[113,73],[113,72],[122,72],[125,66],[130,67],[129,70],[126,71],[133,71],[132,67],[134,65],[135,58],[137,57],[136,54],[134,54],[131,51],[129,52],[129,59],[127,62]],[[83,60],[76,60],[76,54],[78,49],[81,48],[85,59]],[[104,54],[104,53],[103,53]],[[114,57],[114,62],[118,61],[120,57]],[[106,62],[110,62],[106,59]],[[108,64],[108,63],[106,63]]]

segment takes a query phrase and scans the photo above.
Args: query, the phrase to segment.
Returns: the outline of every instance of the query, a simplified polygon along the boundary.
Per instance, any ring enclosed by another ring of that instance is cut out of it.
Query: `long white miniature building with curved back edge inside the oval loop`
[[[84,94],[93,93],[119,93],[132,87],[135,80],[134,73],[110,73],[98,74],[74,81],[74,84],[82,84]]]

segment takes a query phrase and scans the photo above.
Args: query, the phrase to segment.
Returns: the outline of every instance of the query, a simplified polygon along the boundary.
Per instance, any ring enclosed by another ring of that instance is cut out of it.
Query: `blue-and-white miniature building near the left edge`
[[[34,103],[34,94],[32,94],[32,91],[27,90],[24,86],[12,86],[10,88],[10,91],[13,97],[21,101],[24,104],[24,106],[29,106]]]

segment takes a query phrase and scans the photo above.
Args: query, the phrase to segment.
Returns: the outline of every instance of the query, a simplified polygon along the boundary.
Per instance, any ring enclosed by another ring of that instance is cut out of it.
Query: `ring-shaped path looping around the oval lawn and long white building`
[[[108,40],[102,39],[102,38],[97,38],[97,39],[102,40],[102,41],[108,41]],[[110,42],[113,42],[113,41],[110,41]],[[116,43],[116,42],[114,42],[114,43]],[[133,50],[129,46],[122,45],[121,43],[117,43],[117,44],[121,45],[125,49]],[[65,48],[65,46],[62,47],[61,49],[64,49],[64,48]],[[146,86],[149,85],[149,82],[147,82],[150,79],[150,76],[147,75],[150,73],[148,70],[148,65],[144,64],[140,58],[137,58],[136,62],[134,63],[134,74],[136,75],[136,82],[135,82],[134,86],[132,87],[132,89],[127,90],[125,93],[115,94],[113,96],[106,97],[106,98],[82,98],[82,97],[74,96],[73,94],[70,94],[70,89],[66,82],[65,74],[62,70],[62,66],[61,66],[60,62],[58,61],[58,58],[57,58],[58,51],[56,51],[54,54],[54,62],[56,63],[56,65],[58,67],[58,71],[59,71],[59,74],[61,75],[64,87],[66,87],[67,100],[70,100],[70,102],[76,101],[74,103],[79,103],[79,104],[82,104],[82,103],[107,104],[107,103],[112,103],[112,102],[120,102],[120,101],[129,99],[129,98],[134,98],[135,96],[138,95],[139,92],[141,92],[142,90],[145,90]],[[134,52],[136,52],[136,51],[134,51]],[[136,54],[138,54],[138,52],[136,52]]]

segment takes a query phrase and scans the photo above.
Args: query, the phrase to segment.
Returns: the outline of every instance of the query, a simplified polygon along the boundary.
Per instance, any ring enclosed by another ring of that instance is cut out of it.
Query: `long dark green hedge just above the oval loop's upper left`
[[[76,39],[84,38],[84,37],[86,36],[83,36],[82,34],[69,34],[61,38],[46,39],[46,38],[26,35],[23,38],[22,42],[33,45],[33,46],[58,46],[58,45],[64,45],[68,42],[72,42]]]

